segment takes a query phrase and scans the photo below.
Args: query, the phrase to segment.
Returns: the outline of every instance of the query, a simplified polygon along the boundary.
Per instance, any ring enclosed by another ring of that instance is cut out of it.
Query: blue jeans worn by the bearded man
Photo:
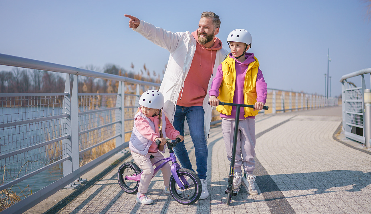
[[[184,107],[177,105],[173,122],[174,128],[180,132],[180,135],[184,135],[184,119],[187,119],[196,155],[197,173],[200,179],[206,179],[207,172],[207,144],[204,135],[204,115],[205,111],[202,106]],[[194,171],[188,157],[187,149],[185,149],[184,141],[179,142],[174,147],[174,153],[183,168]]]

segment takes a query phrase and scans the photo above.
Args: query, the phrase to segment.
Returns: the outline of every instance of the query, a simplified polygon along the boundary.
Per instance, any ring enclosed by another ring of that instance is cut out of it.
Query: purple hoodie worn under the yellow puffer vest
[[[243,104],[243,85],[244,80],[246,76],[246,70],[249,68],[249,64],[254,62],[254,54],[253,53],[245,53],[246,60],[241,63],[238,61],[232,53],[229,54],[230,57],[233,57],[233,59],[236,60],[235,66],[236,66],[236,86],[234,88],[234,95],[233,95],[233,103],[239,103]],[[218,71],[213,79],[213,82],[211,83],[211,89],[209,90],[209,95],[212,96],[219,96],[219,88],[221,85],[221,82],[223,81],[223,70],[221,69],[221,64],[218,67]],[[265,103],[267,100],[267,83],[265,83],[263,73],[260,69],[258,69],[257,77],[256,77],[256,94],[257,102],[263,102]],[[232,106],[232,112],[231,115],[224,115],[220,114],[221,118],[236,118],[236,106]],[[250,116],[246,118],[254,118],[255,116]],[[240,111],[240,119],[244,119],[244,111]]]

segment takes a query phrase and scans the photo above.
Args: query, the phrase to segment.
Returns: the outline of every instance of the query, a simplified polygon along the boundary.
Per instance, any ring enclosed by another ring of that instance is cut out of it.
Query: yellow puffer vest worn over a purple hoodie
[[[246,71],[245,81],[244,81],[244,93],[243,100],[244,104],[254,105],[256,103],[256,76],[259,69],[259,61],[255,58],[255,62],[249,64]],[[234,86],[236,86],[236,61],[230,58],[228,55],[226,59],[221,63],[221,68],[223,69],[223,81],[219,88],[218,99],[222,102],[233,103]],[[216,107],[216,110],[224,115],[231,115],[232,106],[222,106]],[[253,111],[252,108],[244,108],[244,117],[255,116],[258,111]]]

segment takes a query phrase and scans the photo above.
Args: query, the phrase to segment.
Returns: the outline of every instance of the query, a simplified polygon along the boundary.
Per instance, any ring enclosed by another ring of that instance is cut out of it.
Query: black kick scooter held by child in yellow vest
[[[210,105],[210,102],[209,102]],[[236,190],[233,190],[233,178],[234,178],[234,160],[236,158],[236,141],[237,141],[237,132],[238,132],[238,124],[240,120],[240,108],[247,107],[247,108],[254,108],[254,105],[245,105],[245,104],[236,104],[236,103],[227,103],[219,101],[219,105],[229,105],[229,106],[236,106],[236,119],[234,121],[234,133],[233,133],[233,146],[232,146],[232,157],[231,157],[231,165],[229,169],[229,176],[228,176],[228,186],[225,190],[227,194],[227,204],[229,205],[232,202],[232,195],[235,196],[240,191],[242,185]],[[268,106],[264,106],[264,110],[268,110]]]

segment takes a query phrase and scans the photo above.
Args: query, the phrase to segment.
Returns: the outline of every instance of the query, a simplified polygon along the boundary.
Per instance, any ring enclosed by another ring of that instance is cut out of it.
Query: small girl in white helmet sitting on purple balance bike
[[[143,170],[136,200],[142,204],[151,204],[153,201],[145,193],[154,172],[152,164],[164,158],[160,152],[164,153],[166,137],[170,139],[180,138],[181,141],[184,138],[174,129],[167,117],[161,113],[164,106],[164,96],[158,90],[144,92],[139,98],[139,105],[141,106],[134,116],[134,127],[129,141],[129,149],[131,149],[134,161]],[[161,146],[156,145],[156,140],[161,141]],[[151,155],[153,158],[150,159]],[[157,163],[156,166],[161,163]],[[170,164],[162,167],[161,171],[164,177],[164,190],[166,193],[170,193]]]

